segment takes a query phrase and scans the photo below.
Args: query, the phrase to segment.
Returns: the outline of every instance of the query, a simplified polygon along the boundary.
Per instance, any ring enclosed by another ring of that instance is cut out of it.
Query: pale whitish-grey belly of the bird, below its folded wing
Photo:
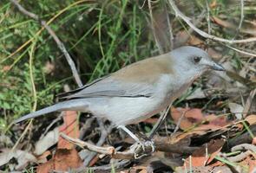
[[[161,112],[169,103],[156,98],[105,98],[91,103],[89,111],[115,125],[139,123]]]

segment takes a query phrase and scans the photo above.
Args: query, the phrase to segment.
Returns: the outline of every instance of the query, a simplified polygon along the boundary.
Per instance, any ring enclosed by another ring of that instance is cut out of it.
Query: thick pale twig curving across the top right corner
[[[177,6],[175,5],[174,3],[174,0],[169,0],[169,3],[171,5],[171,7],[173,8],[174,10],[174,13],[175,13],[175,16],[177,17],[181,17],[181,19],[187,23],[187,25],[194,29],[195,32],[197,32],[199,35],[205,37],[205,38],[208,38],[208,39],[211,39],[213,41],[219,41],[219,42],[226,42],[226,43],[229,43],[229,44],[233,44],[233,43],[245,43],[245,42],[255,42],[256,41],[256,37],[251,37],[251,38],[247,38],[247,39],[241,39],[241,40],[227,40],[227,39],[224,39],[224,38],[221,38],[221,37],[218,37],[218,36],[214,36],[214,35],[209,35],[207,34],[205,31],[201,30],[201,29],[198,29],[192,22],[191,22],[191,19],[187,16],[185,16],[181,10],[179,10],[177,8]]]

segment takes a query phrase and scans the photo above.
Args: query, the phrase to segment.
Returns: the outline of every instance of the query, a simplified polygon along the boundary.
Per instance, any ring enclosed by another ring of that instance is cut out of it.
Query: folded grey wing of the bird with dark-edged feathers
[[[154,93],[154,86],[145,83],[123,82],[111,77],[98,80],[76,93],[64,98],[92,98],[92,97],[150,97]]]

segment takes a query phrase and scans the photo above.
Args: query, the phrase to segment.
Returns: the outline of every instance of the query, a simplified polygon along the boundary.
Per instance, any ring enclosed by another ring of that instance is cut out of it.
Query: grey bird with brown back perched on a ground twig
[[[62,102],[31,112],[15,123],[49,112],[89,112],[108,119],[116,127],[139,139],[126,128],[165,110],[208,70],[225,71],[201,48],[183,46],[122,67],[113,74],[65,93]],[[161,125],[163,117],[156,125]],[[139,140],[140,141],[140,140]]]

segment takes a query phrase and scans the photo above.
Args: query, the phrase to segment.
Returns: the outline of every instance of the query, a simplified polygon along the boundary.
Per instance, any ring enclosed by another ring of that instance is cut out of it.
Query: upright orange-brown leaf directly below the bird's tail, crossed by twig
[[[63,116],[64,123],[59,128],[60,132],[68,135],[71,138],[79,138],[79,125],[77,120],[77,113],[75,111],[66,111]],[[72,149],[74,144],[65,140],[59,136],[59,142],[57,144],[58,149]]]

